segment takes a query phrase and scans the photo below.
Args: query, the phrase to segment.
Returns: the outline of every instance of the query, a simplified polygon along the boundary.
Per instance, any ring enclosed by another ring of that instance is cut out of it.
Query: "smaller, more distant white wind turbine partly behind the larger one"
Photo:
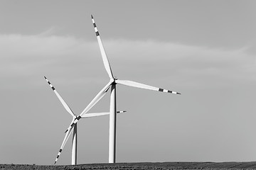
[[[72,120],[72,122],[73,122],[76,118],[78,118],[78,116],[75,115],[75,113],[73,113],[73,111],[68,106],[68,104],[65,103],[63,98],[60,96],[60,94],[58,94],[58,92],[54,88],[54,86],[52,84],[50,84],[50,81],[48,81],[48,79],[46,77],[44,77],[44,78],[48,82],[50,88],[53,89],[54,93],[56,94],[56,96],[58,97],[60,102],[63,104],[65,110],[68,111],[68,113],[70,113],[70,115],[73,116],[73,120]],[[117,111],[117,113],[124,113],[124,112],[126,112],[126,111]],[[100,116],[100,115],[109,115],[109,114],[110,114],[109,112],[107,112],[107,113],[87,113],[87,114],[82,115],[81,118],[92,118],[92,117],[96,117],[96,116]],[[58,161],[58,158],[60,157],[60,154],[63,151],[63,148],[64,148],[66,142],[68,141],[68,137],[70,137],[71,132],[72,132],[72,129],[70,129],[70,130],[68,130],[68,132],[66,132],[63,143],[60,146],[60,150],[58,152],[58,155],[55,159],[54,164],[56,164],[56,162]],[[73,139],[72,139],[72,160],[71,160],[71,164],[73,164],[73,165],[77,164],[77,158],[78,158],[77,157],[77,150],[78,150],[78,126],[77,126],[77,124],[75,124],[74,127],[73,127]]]

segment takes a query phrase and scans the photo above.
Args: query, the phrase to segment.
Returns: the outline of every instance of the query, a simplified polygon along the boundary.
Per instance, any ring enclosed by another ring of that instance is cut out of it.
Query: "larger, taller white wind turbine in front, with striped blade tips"
[[[137,88],[141,88],[141,89],[148,89],[148,90],[153,90],[153,91],[161,91],[161,92],[170,93],[170,94],[180,94],[180,93],[175,92],[175,91],[169,91],[169,90],[166,90],[166,89],[161,89],[161,88],[154,87],[154,86],[149,86],[149,85],[146,85],[146,84],[140,84],[140,83],[137,83],[137,82],[134,82],[134,81],[119,80],[116,77],[114,77],[114,75],[112,73],[112,69],[110,67],[110,62],[107,59],[107,55],[106,55],[105,49],[104,49],[103,44],[102,44],[102,40],[100,39],[100,33],[97,30],[96,23],[95,23],[93,17],[92,17],[92,23],[93,23],[93,26],[95,28],[97,42],[99,43],[99,46],[100,46],[100,53],[102,55],[103,63],[104,63],[105,69],[107,71],[107,74],[110,77],[110,82],[107,83],[107,85],[97,94],[97,96],[95,96],[95,98],[92,99],[91,103],[89,103],[87,108],[85,108],[85,110],[82,111],[82,113],[71,123],[71,125],[68,127],[68,130],[73,128],[75,126],[75,123],[77,123],[78,120],[80,120],[80,118],[82,118],[82,115],[87,113],[87,111],[89,111],[90,108],[92,108],[92,106],[94,106],[95,103],[97,103],[97,101],[99,101],[103,96],[105,96],[108,89],[111,89],[110,90],[111,94],[110,94],[109,163],[115,163],[115,159],[116,159],[116,157],[115,157],[115,154],[116,154],[116,128],[117,128],[116,127],[116,125],[117,125],[117,118],[116,118],[116,115],[117,115],[116,114],[117,113],[116,84],[122,84],[122,85],[125,85],[125,86],[132,86],[132,87],[137,87]],[[68,130],[66,130],[66,132],[68,132]]]

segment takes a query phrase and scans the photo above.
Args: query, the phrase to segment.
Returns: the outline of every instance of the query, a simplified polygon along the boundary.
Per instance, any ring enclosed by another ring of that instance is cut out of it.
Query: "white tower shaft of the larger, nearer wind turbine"
[[[116,84],[111,86],[110,94],[110,142],[109,142],[109,163],[115,163],[116,157],[116,126],[117,126],[117,103]]]

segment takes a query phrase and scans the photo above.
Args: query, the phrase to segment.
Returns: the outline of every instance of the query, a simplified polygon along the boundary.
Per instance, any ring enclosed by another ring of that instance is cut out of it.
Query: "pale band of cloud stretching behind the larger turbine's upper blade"
[[[97,75],[98,68],[103,71],[96,40],[48,35],[49,31],[39,35],[0,35],[1,77],[62,72],[70,79],[81,80],[82,72],[91,72],[90,79]],[[221,50],[154,40],[103,42],[112,68],[117,70],[114,73],[133,76],[135,80],[174,79],[187,86],[255,82],[255,57],[247,54],[247,47]]]

